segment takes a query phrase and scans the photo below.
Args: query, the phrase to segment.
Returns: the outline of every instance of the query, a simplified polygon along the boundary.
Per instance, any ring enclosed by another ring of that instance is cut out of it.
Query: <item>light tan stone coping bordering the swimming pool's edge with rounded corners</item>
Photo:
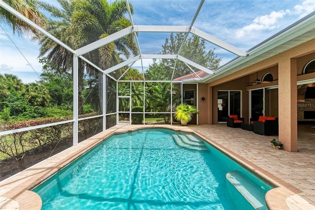
[[[116,125],[109,128],[104,132],[80,142],[76,146],[69,147],[62,152],[1,181],[0,209],[40,210],[42,201],[38,194],[31,191],[34,187],[56,174],[72,161],[111,135],[145,128],[166,128],[174,131],[195,134],[204,139],[210,145],[214,146],[216,149],[244,166],[253,174],[275,187],[269,190],[265,196],[267,207],[270,210],[315,209],[312,204],[297,195],[302,192],[301,190],[284,182],[277,176],[257,167],[250,161],[222,146],[220,143],[217,143],[215,140],[211,140],[208,137],[193,131],[189,128],[189,126],[179,125]]]

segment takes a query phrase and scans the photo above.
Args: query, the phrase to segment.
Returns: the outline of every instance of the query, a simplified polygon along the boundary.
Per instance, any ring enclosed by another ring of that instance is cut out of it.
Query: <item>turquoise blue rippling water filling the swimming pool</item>
[[[267,209],[270,185],[196,136],[166,129],[113,135],[33,191],[43,210],[254,209],[229,172],[256,186]]]

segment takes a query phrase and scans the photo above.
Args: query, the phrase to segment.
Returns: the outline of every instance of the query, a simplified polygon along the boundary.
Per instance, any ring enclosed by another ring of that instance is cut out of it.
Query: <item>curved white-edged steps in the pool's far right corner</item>
[[[191,139],[190,136],[185,135],[176,135],[172,134],[173,139],[177,143],[177,145],[187,148],[187,149],[194,149],[194,150],[208,150],[205,143],[201,140],[196,141],[197,139]]]

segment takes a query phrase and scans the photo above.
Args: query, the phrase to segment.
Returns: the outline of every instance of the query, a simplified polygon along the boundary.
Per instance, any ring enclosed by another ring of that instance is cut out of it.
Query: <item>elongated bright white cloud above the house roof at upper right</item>
[[[251,35],[252,33],[264,31],[264,30],[273,30],[277,27],[277,22],[279,19],[282,19],[284,15],[290,14],[290,10],[280,10],[278,12],[272,11],[269,15],[262,15],[256,17],[252,24],[244,26],[242,29],[237,30],[237,37],[244,37]]]

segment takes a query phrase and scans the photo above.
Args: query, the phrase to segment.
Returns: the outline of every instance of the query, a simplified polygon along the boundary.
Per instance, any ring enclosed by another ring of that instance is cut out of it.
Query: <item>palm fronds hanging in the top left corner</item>
[[[38,10],[37,0],[3,1],[41,28],[45,27],[46,17]],[[27,23],[5,10],[3,7],[0,7],[0,22],[12,26],[13,33],[16,32],[19,35],[33,33],[37,37],[39,36],[38,32],[34,28],[30,27]]]

